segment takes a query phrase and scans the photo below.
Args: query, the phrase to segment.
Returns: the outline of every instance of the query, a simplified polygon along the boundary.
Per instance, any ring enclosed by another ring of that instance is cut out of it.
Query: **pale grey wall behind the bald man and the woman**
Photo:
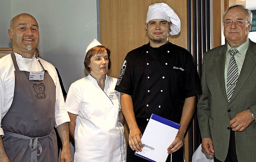
[[[39,50],[58,68],[66,91],[84,77],[84,51],[97,39],[98,0],[0,0],[0,47],[12,47],[10,19],[29,13],[39,24]],[[3,16],[4,15],[4,16]],[[99,20],[98,20],[99,21]]]

